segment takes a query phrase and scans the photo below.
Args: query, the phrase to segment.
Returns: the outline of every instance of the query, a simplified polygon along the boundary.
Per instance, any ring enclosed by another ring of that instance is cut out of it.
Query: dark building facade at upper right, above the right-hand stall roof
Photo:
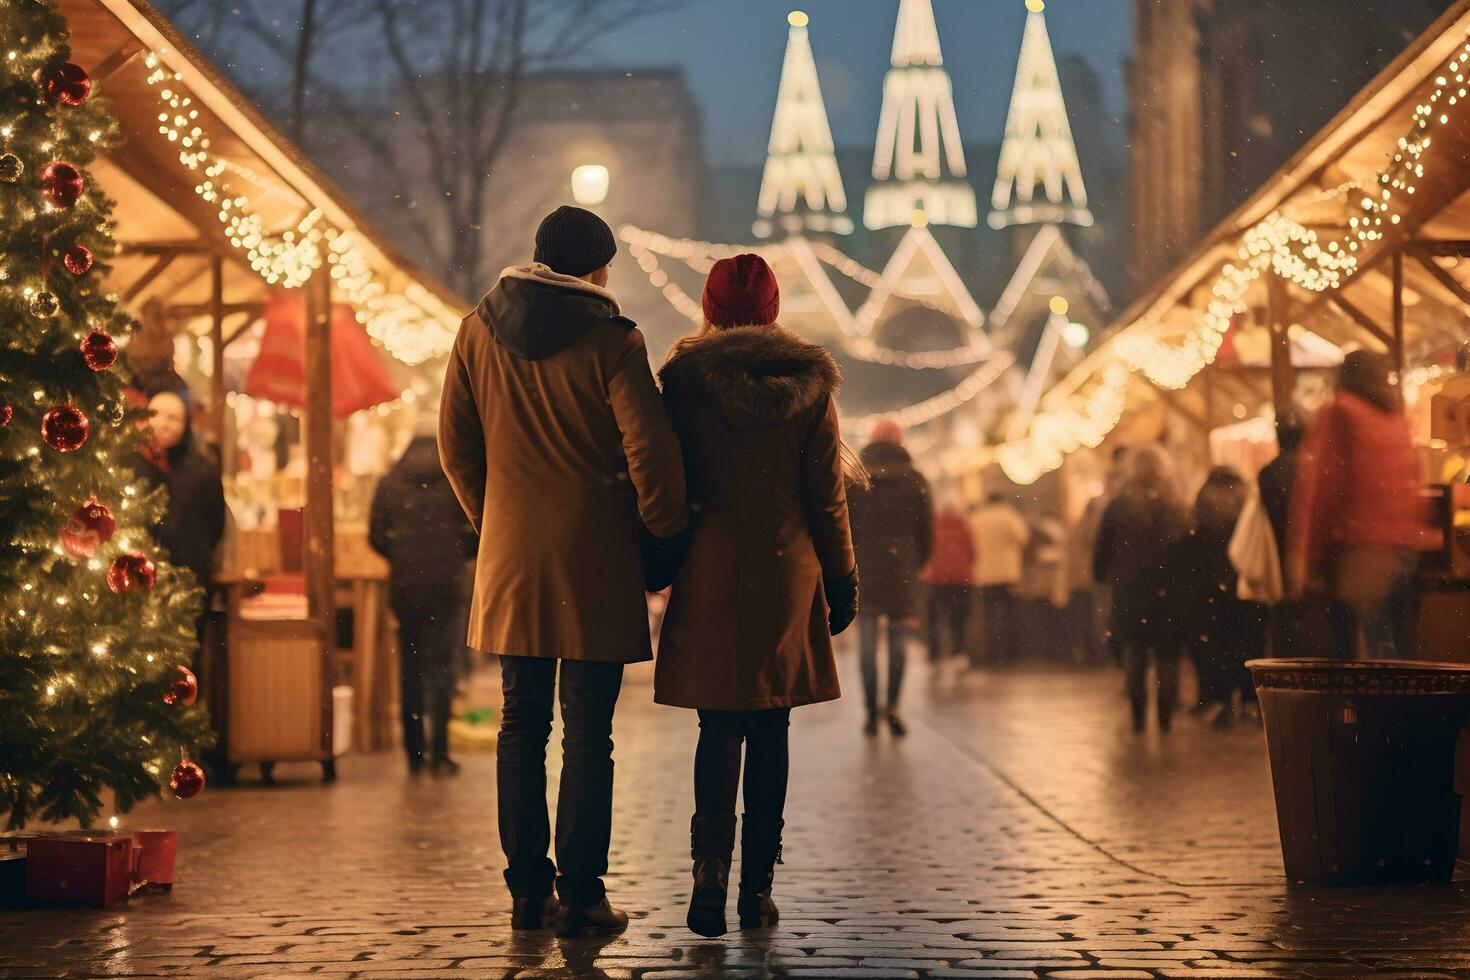
[[[1449,6],[1135,0],[1127,66],[1135,291],[1180,262]]]

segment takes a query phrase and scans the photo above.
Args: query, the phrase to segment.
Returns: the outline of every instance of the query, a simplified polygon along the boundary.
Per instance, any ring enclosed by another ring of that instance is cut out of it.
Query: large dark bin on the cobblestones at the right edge
[[[1252,660],[1286,877],[1445,883],[1460,843],[1455,741],[1470,666]]]

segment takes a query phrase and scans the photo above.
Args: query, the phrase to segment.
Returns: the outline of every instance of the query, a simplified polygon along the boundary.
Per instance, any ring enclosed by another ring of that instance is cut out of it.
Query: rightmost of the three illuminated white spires
[[[1045,0],[1026,0],[1030,13],[991,195],[991,228],[1063,222],[1085,228],[1092,223],[1057,60],[1047,35],[1045,7]]]

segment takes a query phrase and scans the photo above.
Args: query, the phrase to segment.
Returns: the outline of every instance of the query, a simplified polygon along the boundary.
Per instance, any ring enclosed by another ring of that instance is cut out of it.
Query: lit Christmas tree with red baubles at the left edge
[[[90,826],[173,780],[206,741],[190,663],[200,589],[154,551],[163,513],[103,292],[112,203],[87,165],[118,138],[50,0],[0,0],[0,814]]]

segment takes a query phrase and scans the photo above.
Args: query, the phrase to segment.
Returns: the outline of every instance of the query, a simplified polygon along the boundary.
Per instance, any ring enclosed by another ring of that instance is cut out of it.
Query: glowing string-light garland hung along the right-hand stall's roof
[[[1299,222],[1272,212],[1245,231],[1236,262],[1227,263],[1214,285],[1205,310],[1180,342],[1158,336],[1157,322],[1129,328],[1111,344],[1113,360],[1102,367],[1100,383],[1080,406],[1057,406],[1038,413],[1023,439],[1005,442],[991,454],[1016,483],[1032,483],[1044,473],[1061,466],[1066,455],[1079,447],[1098,445],[1123,414],[1132,376],[1144,375],[1161,388],[1183,388],[1207,364],[1214,361],[1229,329],[1230,317],[1244,310],[1245,294],[1267,270],[1304,289],[1324,292],[1341,288],[1360,264],[1357,253],[1385,235],[1385,226],[1398,225],[1398,207],[1413,197],[1424,176],[1423,154],[1429,150],[1436,126],[1449,123],[1448,106],[1455,106],[1470,94],[1466,73],[1470,71],[1470,43],[1449,59],[1435,76],[1429,98],[1414,107],[1410,131],[1398,141],[1389,166],[1377,176],[1377,191],[1364,194],[1358,213],[1348,220],[1348,232],[1341,241],[1323,245],[1314,231]],[[1333,194],[1347,185],[1333,188]],[[1066,400],[1076,401],[1072,394]]]

